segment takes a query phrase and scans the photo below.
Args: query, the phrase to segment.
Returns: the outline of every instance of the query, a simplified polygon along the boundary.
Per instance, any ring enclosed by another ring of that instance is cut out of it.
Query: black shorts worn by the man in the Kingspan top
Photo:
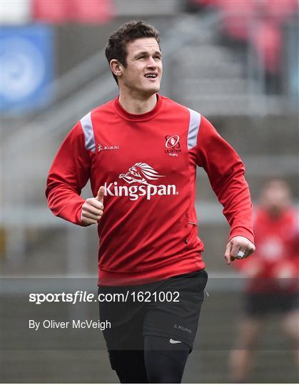
[[[145,335],[192,350],[207,280],[206,270],[198,270],[148,284],[98,287],[101,322],[111,322],[103,331],[108,350],[142,350]]]

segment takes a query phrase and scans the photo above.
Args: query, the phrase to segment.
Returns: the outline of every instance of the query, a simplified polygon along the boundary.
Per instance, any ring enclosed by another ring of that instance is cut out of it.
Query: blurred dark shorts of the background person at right
[[[263,317],[299,309],[299,293],[252,293],[245,295],[245,314]]]

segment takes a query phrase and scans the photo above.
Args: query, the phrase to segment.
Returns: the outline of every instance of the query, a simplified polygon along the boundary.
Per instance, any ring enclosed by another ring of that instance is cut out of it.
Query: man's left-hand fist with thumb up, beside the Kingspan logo
[[[83,203],[81,210],[81,224],[83,226],[90,226],[98,222],[103,215],[103,195],[105,188],[101,186],[98,189],[98,195],[93,198],[88,198]]]

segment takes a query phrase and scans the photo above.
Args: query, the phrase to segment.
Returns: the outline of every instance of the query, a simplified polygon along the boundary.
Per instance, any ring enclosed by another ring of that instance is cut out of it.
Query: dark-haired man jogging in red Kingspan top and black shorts
[[[104,337],[122,383],[179,383],[193,349],[207,273],[194,202],[196,166],[208,173],[230,224],[228,264],[253,245],[244,166],[211,123],[158,94],[158,31],[121,26],[106,57],[119,96],[74,126],[56,155],[46,196],[54,215],[98,223],[98,292]],[[93,196],[80,197],[91,180]]]

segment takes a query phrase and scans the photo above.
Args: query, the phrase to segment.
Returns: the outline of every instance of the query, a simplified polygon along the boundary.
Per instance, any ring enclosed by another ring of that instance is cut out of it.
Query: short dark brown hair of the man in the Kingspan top
[[[105,54],[108,63],[112,59],[118,60],[124,67],[126,67],[127,51],[126,46],[131,41],[141,38],[152,37],[156,39],[157,43],[160,44],[160,36],[156,28],[147,24],[145,21],[128,21],[128,23],[120,26],[116,31],[111,34],[108,39]],[[118,83],[117,76],[113,74],[113,78]]]

